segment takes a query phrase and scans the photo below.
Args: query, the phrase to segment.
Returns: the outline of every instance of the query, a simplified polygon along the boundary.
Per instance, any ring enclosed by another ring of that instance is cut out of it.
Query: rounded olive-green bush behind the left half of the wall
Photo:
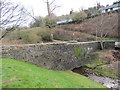
[[[32,28],[21,31],[14,31],[7,37],[10,41],[17,40],[19,43],[32,44],[39,42],[47,42],[51,40],[52,30],[46,28]]]

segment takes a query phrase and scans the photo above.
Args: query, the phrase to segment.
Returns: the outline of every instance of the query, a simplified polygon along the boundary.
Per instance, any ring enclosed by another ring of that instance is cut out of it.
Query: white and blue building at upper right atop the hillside
[[[102,13],[109,12],[109,11],[114,11],[114,10],[118,10],[118,9],[120,9],[120,3],[100,8]]]

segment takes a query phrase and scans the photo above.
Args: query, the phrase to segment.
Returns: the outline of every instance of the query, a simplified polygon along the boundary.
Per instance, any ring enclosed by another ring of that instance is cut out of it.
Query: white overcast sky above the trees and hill
[[[46,0],[11,0],[12,2],[16,2],[24,5],[27,9],[34,10],[35,16],[46,16],[47,8],[44,1]],[[53,1],[53,0],[49,0]],[[80,8],[88,8],[96,5],[96,2],[100,2],[101,5],[106,6],[107,4],[111,5],[116,0],[56,0],[55,4],[61,6],[56,9],[54,13],[57,16],[69,14],[71,8],[74,11],[79,11]]]

